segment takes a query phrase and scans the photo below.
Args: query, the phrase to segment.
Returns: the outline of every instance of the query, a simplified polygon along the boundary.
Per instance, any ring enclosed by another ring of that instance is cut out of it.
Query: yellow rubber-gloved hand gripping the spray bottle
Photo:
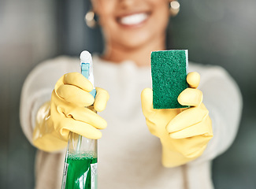
[[[96,96],[89,93],[93,86],[78,72],[67,73],[58,80],[51,95],[37,113],[33,143],[41,150],[61,150],[67,145],[69,132],[89,139],[99,139],[106,128],[106,120],[91,109],[101,112],[109,99],[107,91],[96,88]]]

